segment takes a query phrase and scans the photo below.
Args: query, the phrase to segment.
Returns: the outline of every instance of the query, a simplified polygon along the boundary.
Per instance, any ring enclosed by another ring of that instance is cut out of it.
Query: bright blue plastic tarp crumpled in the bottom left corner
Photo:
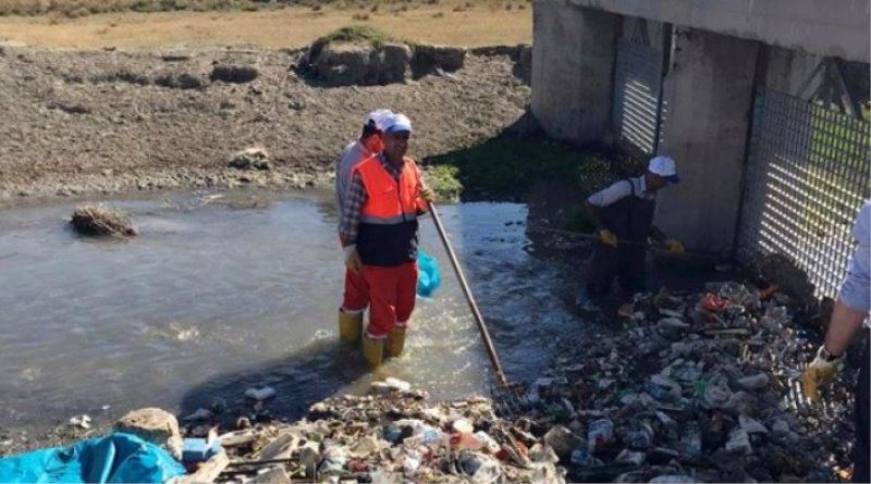
[[[165,450],[128,434],[0,458],[2,483],[164,483],[184,473]]]

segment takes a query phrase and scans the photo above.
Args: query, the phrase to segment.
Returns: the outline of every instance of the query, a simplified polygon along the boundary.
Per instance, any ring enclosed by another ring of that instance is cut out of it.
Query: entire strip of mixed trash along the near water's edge
[[[852,373],[824,405],[803,400],[798,376],[819,334],[797,313],[787,296],[734,282],[636,295],[613,331],[566,342],[540,378],[492,398],[430,401],[388,378],[285,422],[269,412],[274,390],[256,387],[244,408],[217,399],[179,420],[137,410],[114,430],[184,447],[188,471],[214,482],[848,480]]]

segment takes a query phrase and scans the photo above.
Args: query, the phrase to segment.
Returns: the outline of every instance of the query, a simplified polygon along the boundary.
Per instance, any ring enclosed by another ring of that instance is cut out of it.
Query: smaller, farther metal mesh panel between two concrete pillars
[[[617,40],[614,73],[614,131],[646,153],[657,149],[662,52],[628,39]]]

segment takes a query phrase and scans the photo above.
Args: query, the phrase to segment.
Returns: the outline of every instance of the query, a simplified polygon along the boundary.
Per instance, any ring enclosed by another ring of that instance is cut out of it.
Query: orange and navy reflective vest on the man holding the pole
[[[366,189],[360,210],[357,252],[366,265],[396,266],[417,260],[420,171],[405,158],[400,178],[369,158],[354,169]]]

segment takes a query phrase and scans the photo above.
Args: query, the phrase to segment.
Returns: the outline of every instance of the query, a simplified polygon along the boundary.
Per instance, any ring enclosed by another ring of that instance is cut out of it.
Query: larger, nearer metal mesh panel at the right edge
[[[869,123],[771,89],[753,110],[738,256],[785,253],[834,297],[871,194]]]

